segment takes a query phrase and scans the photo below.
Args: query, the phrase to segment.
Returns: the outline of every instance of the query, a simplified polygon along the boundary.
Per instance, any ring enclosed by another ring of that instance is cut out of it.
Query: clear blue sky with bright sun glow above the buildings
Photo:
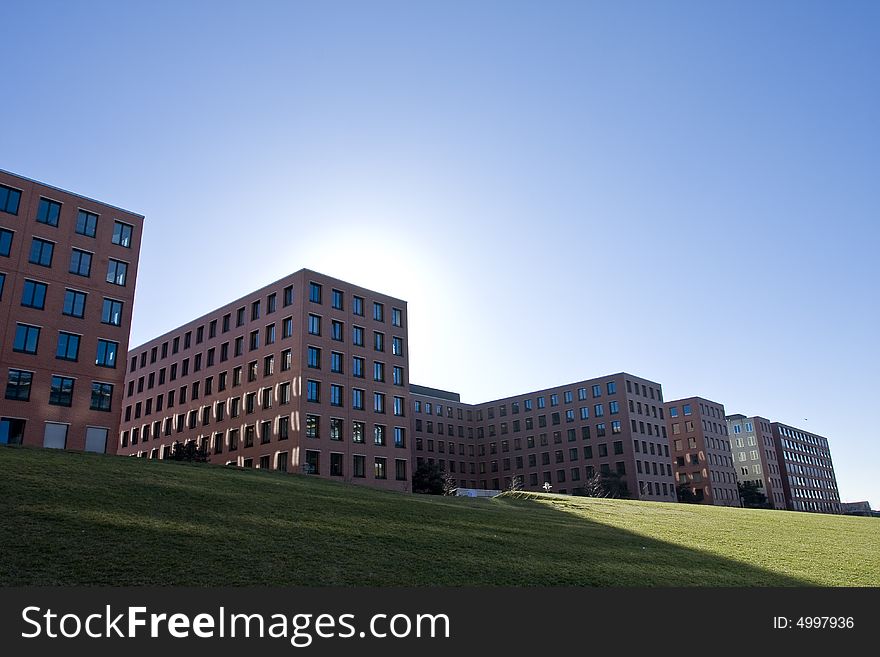
[[[133,344],[310,267],[413,382],[620,370],[880,507],[880,3],[19,2],[0,168],[147,216]]]

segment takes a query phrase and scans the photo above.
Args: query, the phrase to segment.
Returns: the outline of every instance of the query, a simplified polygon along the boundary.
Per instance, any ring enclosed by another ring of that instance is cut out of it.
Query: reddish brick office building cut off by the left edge
[[[116,451],[143,219],[0,171],[0,444]]]

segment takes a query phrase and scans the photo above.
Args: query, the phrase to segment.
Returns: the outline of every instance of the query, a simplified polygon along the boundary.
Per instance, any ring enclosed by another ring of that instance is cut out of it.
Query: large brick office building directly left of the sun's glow
[[[306,269],[131,350],[119,453],[411,490],[406,302]]]

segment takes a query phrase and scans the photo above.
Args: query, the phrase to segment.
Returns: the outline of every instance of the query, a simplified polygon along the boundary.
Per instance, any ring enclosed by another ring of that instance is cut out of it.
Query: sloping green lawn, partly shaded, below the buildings
[[[0,585],[878,586],[874,518],[0,448]]]

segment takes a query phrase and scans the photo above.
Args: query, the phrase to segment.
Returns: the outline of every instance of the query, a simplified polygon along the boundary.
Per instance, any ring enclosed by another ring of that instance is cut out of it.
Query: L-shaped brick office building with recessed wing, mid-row
[[[597,475],[615,494],[674,501],[660,384],[619,373],[480,404],[413,386],[414,456],[460,486],[581,494]]]

